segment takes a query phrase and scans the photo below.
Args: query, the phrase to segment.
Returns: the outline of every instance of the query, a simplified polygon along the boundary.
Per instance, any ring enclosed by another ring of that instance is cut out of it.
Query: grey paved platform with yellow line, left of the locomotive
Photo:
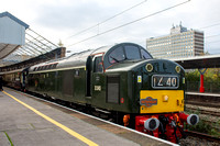
[[[173,143],[47,104],[22,92],[0,91],[0,146],[164,146]]]

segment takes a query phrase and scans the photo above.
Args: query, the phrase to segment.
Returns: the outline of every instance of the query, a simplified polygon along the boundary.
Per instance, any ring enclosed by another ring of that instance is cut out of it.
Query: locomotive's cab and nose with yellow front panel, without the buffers
[[[90,69],[87,67],[87,94],[95,104],[135,114],[184,111],[185,71],[179,65],[153,59],[132,43],[105,49],[95,50],[87,60],[91,61]]]

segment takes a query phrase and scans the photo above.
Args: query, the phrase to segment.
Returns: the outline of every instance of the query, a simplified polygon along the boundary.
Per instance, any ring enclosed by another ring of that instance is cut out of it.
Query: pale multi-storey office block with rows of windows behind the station
[[[154,58],[163,59],[200,56],[204,55],[204,32],[173,25],[169,35],[147,38],[146,49]]]

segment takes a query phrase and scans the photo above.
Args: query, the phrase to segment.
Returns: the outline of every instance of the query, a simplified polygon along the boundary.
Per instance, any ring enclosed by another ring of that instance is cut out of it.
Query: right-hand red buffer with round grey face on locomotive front
[[[182,121],[187,122],[189,125],[196,125],[199,122],[199,116],[197,114],[185,114],[179,113],[179,117]]]

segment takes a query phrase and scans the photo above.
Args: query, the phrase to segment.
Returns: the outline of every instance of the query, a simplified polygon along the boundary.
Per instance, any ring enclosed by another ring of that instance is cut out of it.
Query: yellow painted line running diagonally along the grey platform
[[[47,120],[48,122],[53,123],[54,125],[61,127],[62,130],[64,130],[65,132],[67,132],[68,134],[70,134],[72,136],[80,139],[81,142],[86,143],[89,146],[98,146],[98,144],[91,142],[90,139],[81,136],[80,134],[74,132],[73,130],[68,128],[67,126],[56,122],[55,120],[48,117],[47,115],[41,113],[40,111],[35,110],[34,108],[28,105],[26,103],[20,101],[19,99],[14,98],[13,96],[7,93],[6,91],[2,91],[3,93],[6,93],[7,96],[11,97],[12,99],[14,99],[15,101],[18,101],[19,103],[21,103],[22,105],[26,106],[28,109],[30,109],[31,111],[33,111],[34,113],[38,114],[40,116],[44,117],[45,120]]]

